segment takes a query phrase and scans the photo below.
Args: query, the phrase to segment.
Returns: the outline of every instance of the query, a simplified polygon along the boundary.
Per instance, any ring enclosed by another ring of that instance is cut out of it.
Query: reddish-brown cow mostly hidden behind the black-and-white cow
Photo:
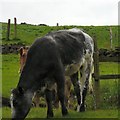
[[[28,46],[20,48],[20,73],[22,72],[22,69],[23,69],[23,67],[25,65],[28,49],[29,49]],[[55,87],[54,88],[54,90],[55,90],[54,106],[55,106],[55,108],[58,108],[59,107],[59,100],[58,100],[58,97],[56,95],[56,93],[57,93],[57,91],[56,91],[56,88],[57,88],[56,84],[54,85],[54,87]],[[66,77],[66,80],[65,80],[66,106],[69,106],[68,103],[69,103],[69,97],[70,97],[70,90],[71,90],[71,81],[70,81],[69,77]],[[39,91],[34,93],[33,103],[34,103],[35,107],[39,107],[39,105],[40,105],[40,97],[41,96],[40,96],[40,92]]]

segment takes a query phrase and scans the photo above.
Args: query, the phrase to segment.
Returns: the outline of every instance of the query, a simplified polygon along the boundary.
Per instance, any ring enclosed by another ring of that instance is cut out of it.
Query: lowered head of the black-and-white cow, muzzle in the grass
[[[24,92],[21,87],[15,88],[11,92],[10,103],[12,119],[24,119],[31,107],[32,93]]]

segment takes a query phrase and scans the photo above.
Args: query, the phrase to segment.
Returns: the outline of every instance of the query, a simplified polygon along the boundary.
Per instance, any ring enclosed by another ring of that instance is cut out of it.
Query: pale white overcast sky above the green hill
[[[0,0],[0,22],[117,25],[119,0]]]

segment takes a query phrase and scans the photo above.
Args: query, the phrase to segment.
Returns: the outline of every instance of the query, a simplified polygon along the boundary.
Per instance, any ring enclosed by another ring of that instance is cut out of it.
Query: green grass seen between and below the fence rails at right
[[[120,64],[114,62],[100,63],[100,75],[119,74]],[[100,81],[101,108],[111,109],[118,104],[118,79]]]

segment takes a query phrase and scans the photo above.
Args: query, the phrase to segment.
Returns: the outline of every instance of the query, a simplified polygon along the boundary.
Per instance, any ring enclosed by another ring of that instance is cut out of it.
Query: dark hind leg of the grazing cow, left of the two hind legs
[[[74,86],[74,91],[77,96],[77,111],[79,112],[80,109],[80,103],[81,103],[81,95],[80,95],[80,82],[78,80],[78,72],[70,76],[72,84]]]

